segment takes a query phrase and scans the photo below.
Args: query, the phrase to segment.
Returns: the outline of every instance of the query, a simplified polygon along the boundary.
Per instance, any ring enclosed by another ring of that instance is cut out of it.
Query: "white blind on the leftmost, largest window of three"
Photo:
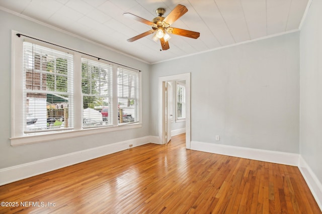
[[[24,133],[73,127],[73,56],[24,42]]]

